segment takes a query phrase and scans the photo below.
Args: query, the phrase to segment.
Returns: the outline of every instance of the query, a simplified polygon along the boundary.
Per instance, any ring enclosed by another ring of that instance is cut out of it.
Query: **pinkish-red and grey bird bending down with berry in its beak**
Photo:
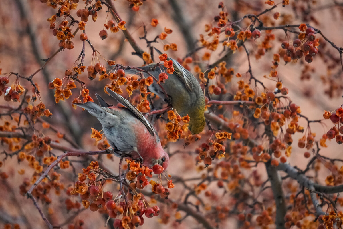
[[[100,106],[94,102],[75,105],[97,117],[116,156],[140,159],[145,166],[159,164],[166,169],[169,156],[163,150],[154,126],[128,100],[109,88],[106,90],[126,108],[109,105],[98,94]]]

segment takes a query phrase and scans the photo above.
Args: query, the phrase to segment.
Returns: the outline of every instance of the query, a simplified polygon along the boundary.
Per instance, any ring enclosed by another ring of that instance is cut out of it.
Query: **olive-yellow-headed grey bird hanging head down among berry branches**
[[[162,54],[161,51],[155,48],[158,54]],[[198,80],[187,69],[182,67],[175,59],[167,58],[167,60],[173,61],[175,72],[165,80],[161,86],[164,88],[166,94],[171,98],[171,105],[181,115],[189,115],[190,122],[188,128],[192,134],[200,133],[205,127],[205,96],[201,89]],[[142,70],[151,70],[150,73],[158,79],[161,70],[166,72],[166,68],[163,65],[157,66],[155,69],[151,69],[156,64],[149,64],[144,67],[140,67]],[[130,69],[125,70],[127,73],[135,74],[138,70]],[[145,74],[145,73],[144,73]],[[149,75],[145,74],[146,77]],[[149,86],[149,89],[161,98],[165,98],[165,94],[161,87],[154,82]]]

